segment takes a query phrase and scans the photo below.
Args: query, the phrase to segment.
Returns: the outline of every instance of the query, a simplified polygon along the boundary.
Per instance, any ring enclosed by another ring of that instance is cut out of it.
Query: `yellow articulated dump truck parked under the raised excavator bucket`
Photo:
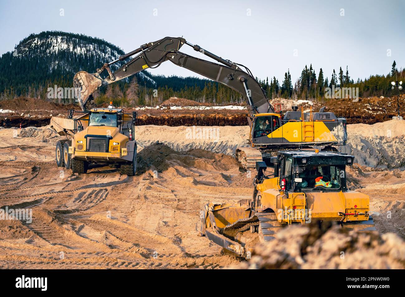
[[[92,108],[74,117],[52,117],[51,127],[67,136],[56,144],[56,165],[86,173],[90,165],[110,165],[121,174],[136,173],[136,141],[134,124],[137,113],[125,114],[122,109]]]

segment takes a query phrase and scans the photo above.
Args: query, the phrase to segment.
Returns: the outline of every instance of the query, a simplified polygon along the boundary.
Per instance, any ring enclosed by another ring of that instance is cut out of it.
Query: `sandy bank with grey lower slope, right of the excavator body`
[[[347,125],[344,153],[355,162],[372,168],[405,166],[405,121],[391,120],[373,125]]]

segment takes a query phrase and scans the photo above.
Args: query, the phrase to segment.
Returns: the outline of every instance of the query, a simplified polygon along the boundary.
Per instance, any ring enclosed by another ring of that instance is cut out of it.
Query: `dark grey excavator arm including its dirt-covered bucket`
[[[179,49],[184,44],[189,45],[195,51],[203,53],[221,64],[181,53]],[[139,55],[124,64],[117,71],[111,72],[110,65],[123,61],[137,53]],[[105,63],[102,68],[97,69],[96,73],[77,72],[73,79],[73,85],[75,90],[78,90],[76,95],[82,110],[87,110],[88,106],[94,105],[92,93],[99,87],[122,80],[147,68],[157,68],[166,60],[239,92],[246,100],[250,117],[253,117],[256,113],[274,112],[273,106],[267,100],[264,90],[248,68],[222,59],[198,45],[192,45],[181,37],[165,37],[155,42],[149,42],[130,53],[120,56],[119,59],[111,63]],[[242,70],[241,67],[244,67],[247,72]],[[107,70],[109,74],[107,78],[100,76],[104,70]]]

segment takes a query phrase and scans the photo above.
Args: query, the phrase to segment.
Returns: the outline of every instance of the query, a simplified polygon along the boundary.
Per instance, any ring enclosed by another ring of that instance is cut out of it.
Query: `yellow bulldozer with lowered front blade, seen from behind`
[[[345,168],[353,164],[352,155],[284,150],[270,161],[271,166],[256,162],[252,199],[204,206],[200,236],[248,257],[256,244],[275,240],[282,227],[292,224],[321,220],[347,230],[376,231],[369,196],[347,189]]]

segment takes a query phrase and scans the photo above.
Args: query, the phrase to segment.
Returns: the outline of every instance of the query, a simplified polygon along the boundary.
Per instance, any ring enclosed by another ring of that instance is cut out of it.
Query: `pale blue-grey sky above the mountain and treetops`
[[[356,80],[387,74],[393,60],[405,66],[404,12],[405,1],[0,0],[0,54],[45,30],[96,36],[126,52],[164,36],[183,36],[259,78],[281,81],[290,68],[295,81],[312,63],[317,75],[322,67],[328,78],[333,68],[348,65]],[[187,46],[181,50],[199,55]],[[151,72],[194,75],[171,63]]]

